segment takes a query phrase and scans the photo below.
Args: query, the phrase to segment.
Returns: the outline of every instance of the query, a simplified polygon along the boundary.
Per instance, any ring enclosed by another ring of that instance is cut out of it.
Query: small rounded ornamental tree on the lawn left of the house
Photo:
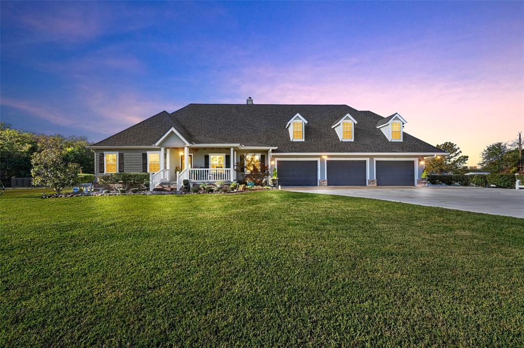
[[[57,194],[65,187],[78,182],[80,165],[68,163],[64,153],[56,148],[47,148],[32,155],[31,176],[35,185],[53,189]]]

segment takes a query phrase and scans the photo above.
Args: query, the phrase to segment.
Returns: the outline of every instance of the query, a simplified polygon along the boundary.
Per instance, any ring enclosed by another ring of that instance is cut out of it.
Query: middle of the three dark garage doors
[[[326,162],[329,186],[366,186],[366,161]]]

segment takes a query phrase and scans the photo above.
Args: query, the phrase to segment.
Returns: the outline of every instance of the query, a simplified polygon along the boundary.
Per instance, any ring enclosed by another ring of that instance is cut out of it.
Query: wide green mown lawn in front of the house
[[[524,345],[524,220],[291,192],[0,197],[0,346]]]

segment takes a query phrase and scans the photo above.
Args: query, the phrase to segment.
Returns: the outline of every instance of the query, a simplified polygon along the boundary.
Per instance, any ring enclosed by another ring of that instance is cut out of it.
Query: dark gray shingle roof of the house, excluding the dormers
[[[289,140],[287,122],[296,114],[308,120],[305,141]],[[350,114],[358,122],[354,141],[340,141],[331,125]],[[190,143],[240,143],[278,147],[276,152],[443,152],[404,132],[390,142],[377,127],[384,117],[347,105],[189,104],[150,117],[95,146],[150,146],[175,127]]]

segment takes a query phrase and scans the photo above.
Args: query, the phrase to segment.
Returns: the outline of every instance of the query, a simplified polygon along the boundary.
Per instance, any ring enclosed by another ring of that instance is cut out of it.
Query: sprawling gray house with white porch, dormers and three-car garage
[[[183,179],[235,181],[239,161],[276,169],[281,186],[417,186],[424,158],[446,155],[382,117],[347,105],[189,104],[89,148],[96,176],[149,172],[151,188]]]

